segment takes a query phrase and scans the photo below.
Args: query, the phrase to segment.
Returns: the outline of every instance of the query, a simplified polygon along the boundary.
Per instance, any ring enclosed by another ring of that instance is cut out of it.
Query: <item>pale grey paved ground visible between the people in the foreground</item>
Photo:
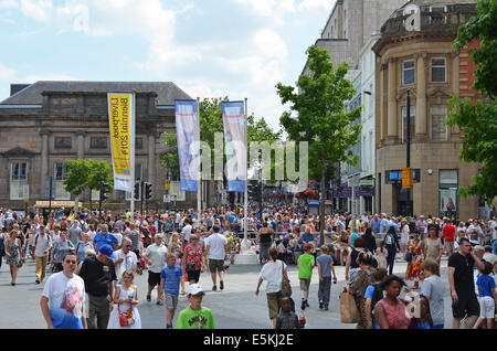
[[[394,274],[403,276],[406,264],[398,263],[394,266]],[[448,283],[446,275],[446,258],[442,262],[442,279],[446,283],[445,291],[445,326],[452,326],[451,297],[448,294]],[[210,274],[203,273],[200,284],[205,289],[203,305],[212,309],[216,327],[220,329],[269,329],[272,323],[268,319],[265,283],[258,297],[255,296],[260,266],[231,266],[225,276],[225,289],[223,291],[211,291],[212,280]],[[342,325],[339,312],[339,294],[345,286],[345,267],[336,267],[338,284],[331,286],[330,310],[319,310],[317,301],[318,277],[317,269],[310,285],[309,305],[305,310],[307,328],[311,329],[351,329],[355,325]],[[297,305],[297,312],[300,312],[300,291],[297,278],[297,267],[289,267],[289,278],[293,287],[293,298]],[[138,309],[141,316],[142,328],[165,328],[166,308],[155,304],[156,291],[152,292],[152,302],[145,299],[147,289],[147,276],[145,270],[142,276],[137,276],[135,283],[139,287],[140,304]],[[44,283],[34,283],[34,262],[30,258],[19,270],[18,281],[14,287],[10,285],[9,267],[4,262],[0,268],[0,309],[3,318],[0,318],[1,329],[44,329],[45,322],[40,310],[40,297]],[[46,280],[45,280],[46,281]],[[188,287],[188,284],[187,284]],[[180,296],[179,310],[187,307],[188,300]],[[177,312],[178,315],[178,312]],[[8,316],[8,317],[7,317]],[[175,318],[176,323],[176,318]]]

